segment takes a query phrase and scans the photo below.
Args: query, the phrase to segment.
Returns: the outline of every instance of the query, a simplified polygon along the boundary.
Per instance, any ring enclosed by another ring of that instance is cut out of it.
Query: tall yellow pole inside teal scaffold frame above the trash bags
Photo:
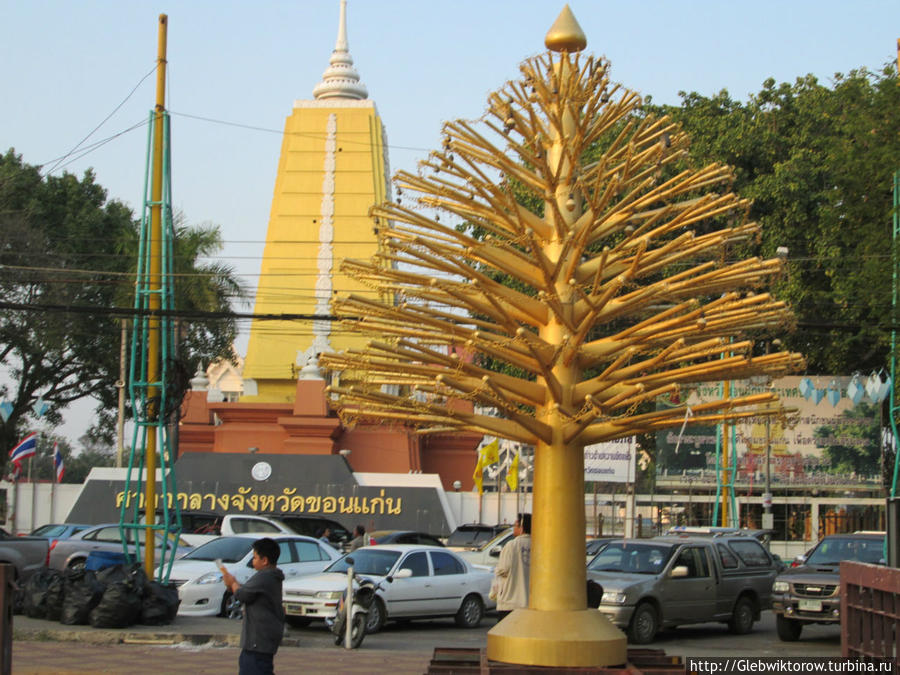
[[[156,66],[156,114],[153,118],[153,183],[151,186],[150,205],[150,321],[147,340],[147,382],[159,380],[160,374],[160,320],[159,310],[162,309],[162,183],[163,183],[163,113],[166,103],[166,29],[168,17],[159,15],[159,43]],[[148,417],[155,422],[159,415],[159,387],[148,386],[147,399]],[[147,524],[144,537],[144,570],[147,576],[153,578],[155,567],[156,537],[153,525],[156,522],[156,447],[157,427],[149,427],[147,443],[144,448],[146,454],[147,483],[144,517]]]

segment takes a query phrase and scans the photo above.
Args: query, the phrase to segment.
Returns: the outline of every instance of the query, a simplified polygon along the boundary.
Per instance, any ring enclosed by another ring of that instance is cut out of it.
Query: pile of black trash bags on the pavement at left
[[[68,625],[162,626],[178,612],[178,589],[149,581],[140,563],[102,570],[43,568],[22,589],[22,613]]]

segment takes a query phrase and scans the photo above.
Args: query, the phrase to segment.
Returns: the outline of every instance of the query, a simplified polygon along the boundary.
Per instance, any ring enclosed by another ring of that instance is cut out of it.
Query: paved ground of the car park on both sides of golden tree
[[[279,673],[422,674],[435,647],[482,648],[495,620],[457,628],[452,620],[389,623],[366,637],[361,649],[335,647],[321,624],[288,629],[275,657]],[[240,622],[178,617],[169,626],[104,630],[64,626],[17,615],[13,622],[13,672],[41,675],[86,673],[232,673],[237,670]],[[660,633],[648,647],[673,656],[840,656],[840,629],[808,626],[800,641],[781,642],[771,612],[748,635],[720,624],[686,626]]]

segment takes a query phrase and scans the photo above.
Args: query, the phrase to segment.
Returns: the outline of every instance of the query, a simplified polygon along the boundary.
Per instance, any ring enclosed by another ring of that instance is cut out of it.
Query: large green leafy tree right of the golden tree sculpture
[[[782,336],[811,372],[884,365],[891,320],[891,177],[900,157],[900,87],[881,73],[767,80],[746,102],[727,91],[682,92],[671,114],[690,134],[690,161],[725,162],[762,225],[754,251],[789,251],[776,286],[797,315]]]

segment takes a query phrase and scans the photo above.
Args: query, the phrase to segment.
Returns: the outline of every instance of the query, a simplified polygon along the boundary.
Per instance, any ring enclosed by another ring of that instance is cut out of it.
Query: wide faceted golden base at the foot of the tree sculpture
[[[625,634],[596,609],[517,609],[488,632],[491,661],[529,666],[615,666]]]

